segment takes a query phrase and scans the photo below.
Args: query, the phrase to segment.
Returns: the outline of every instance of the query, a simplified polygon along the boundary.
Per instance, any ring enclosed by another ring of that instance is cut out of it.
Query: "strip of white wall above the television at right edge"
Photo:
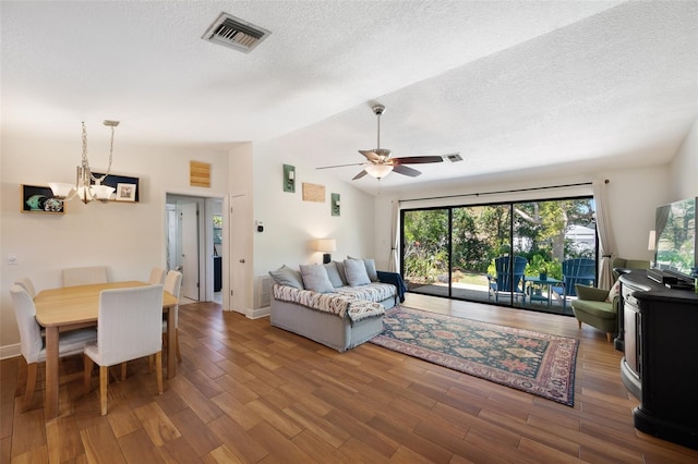
[[[698,196],[698,119],[670,164],[670,197],[664,203]]]

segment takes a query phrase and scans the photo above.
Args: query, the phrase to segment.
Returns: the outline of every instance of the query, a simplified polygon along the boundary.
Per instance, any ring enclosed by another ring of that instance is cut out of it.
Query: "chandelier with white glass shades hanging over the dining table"
[[[85,123],[83,122],[83,158],[81,166],[77,167],[77,174],[75,184],[49,182],[49,186],[53,192],[53,196],[58,199],[68,200],[73,197],[79,197],[84,204],[88,204],[92,200],[99,200],[103,203],[109,202],[115,188],[109,185],[101,185],[109,172],[111,172],[111,159],[113,154],[113,131],[119,125],[119,121],[105,121],[105,125],[111,127],[111,141],[109,143],[109,167],[107,172],[97,178],[92,173],[89,168],[89,160],[87,159],[87,131],[85,130]],[[93,183],[94,182],[94,183]]]

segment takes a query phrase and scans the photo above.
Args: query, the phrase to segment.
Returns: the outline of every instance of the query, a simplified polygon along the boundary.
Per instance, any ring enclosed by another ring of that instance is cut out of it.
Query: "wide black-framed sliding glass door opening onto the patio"
[[[595,269],[593,200],[406,209],[401,244],[411,292],[571,314],[563,264]]]

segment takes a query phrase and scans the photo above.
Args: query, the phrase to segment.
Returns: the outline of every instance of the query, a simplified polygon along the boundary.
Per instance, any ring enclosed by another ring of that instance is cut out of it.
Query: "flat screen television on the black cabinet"
[[[662,205],[655,217],[654,267],[688,281],[698,273],[697,203],[694,197]]]

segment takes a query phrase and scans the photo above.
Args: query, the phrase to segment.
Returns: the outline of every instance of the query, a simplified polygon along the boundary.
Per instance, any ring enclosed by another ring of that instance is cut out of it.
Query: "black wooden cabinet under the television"
[[[640,404],[635,427],[698,449],[698,295],[672,290],[643,270],[621,276],[621,377]]]

